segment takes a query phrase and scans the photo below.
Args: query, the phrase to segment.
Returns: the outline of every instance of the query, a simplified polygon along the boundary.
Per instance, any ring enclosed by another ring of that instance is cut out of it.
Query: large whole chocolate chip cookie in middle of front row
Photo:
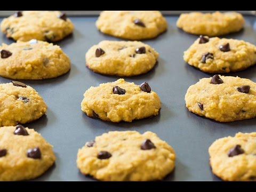
[[[78,169],[103,181],[161,180],[174,164],[172,147],[150,131],[104,133],[77,154]]]

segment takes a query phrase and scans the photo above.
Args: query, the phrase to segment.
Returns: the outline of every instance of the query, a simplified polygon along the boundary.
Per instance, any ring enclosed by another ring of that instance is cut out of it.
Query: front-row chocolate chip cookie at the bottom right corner
[[[237,133],[212,143],[212,172],[225,181],[256,181],[256,133]]]

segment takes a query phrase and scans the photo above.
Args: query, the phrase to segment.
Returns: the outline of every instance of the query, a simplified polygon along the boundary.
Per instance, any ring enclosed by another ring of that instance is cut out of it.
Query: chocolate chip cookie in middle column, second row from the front
[[[132,122],[133,119],[158,115],[161,101],[147,82],[139,86],[118,79],[90,87],[84,93],[81,107],[89,117],[111,122]]]

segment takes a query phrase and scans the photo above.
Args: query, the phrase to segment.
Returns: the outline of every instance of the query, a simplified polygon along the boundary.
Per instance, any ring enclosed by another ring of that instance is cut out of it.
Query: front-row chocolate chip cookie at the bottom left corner
[[[39,133],[17,127],[0,128],[0,181],[34,179],[55,161],[52,146]]]

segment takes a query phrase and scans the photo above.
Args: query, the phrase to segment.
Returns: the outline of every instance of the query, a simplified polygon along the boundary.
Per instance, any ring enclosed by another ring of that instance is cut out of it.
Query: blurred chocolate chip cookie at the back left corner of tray
[[[14,40],[56,42],[73,32],[73,23],[59,11],[19,11],[1,22],[6,37]]]

